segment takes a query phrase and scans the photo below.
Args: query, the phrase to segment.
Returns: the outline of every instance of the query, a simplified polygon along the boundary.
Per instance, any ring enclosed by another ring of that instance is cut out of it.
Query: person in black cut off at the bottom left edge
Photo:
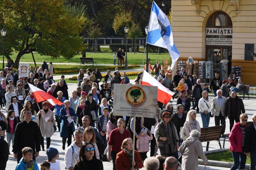
[[[9,159],[9,146],[3,137],[1,137],[2,127],[0,126],[0,170],[5,170],[6,162]]]

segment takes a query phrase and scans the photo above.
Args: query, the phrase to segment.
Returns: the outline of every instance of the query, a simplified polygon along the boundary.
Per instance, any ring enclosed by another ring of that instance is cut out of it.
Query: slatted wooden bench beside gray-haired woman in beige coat
[[[222,127],[223,125],[201,128],[201,136],[199,137],[198,140],[201,142],[207,142],[206,151],[208,151],[209,149],[210,141],[217,140],[220,145]],[[221,149],[221,145],[220,145],[220,149]]]

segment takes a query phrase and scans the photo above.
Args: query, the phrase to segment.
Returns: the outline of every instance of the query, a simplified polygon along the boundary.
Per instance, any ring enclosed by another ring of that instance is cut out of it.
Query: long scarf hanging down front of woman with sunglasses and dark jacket
[[[167,127],[164,125],[164,135],[165,137],[167,137],[167,140],[164,142],[165,153],[175,153],[176,151],[173,142],[172,127],[170,122],[168,122]]]

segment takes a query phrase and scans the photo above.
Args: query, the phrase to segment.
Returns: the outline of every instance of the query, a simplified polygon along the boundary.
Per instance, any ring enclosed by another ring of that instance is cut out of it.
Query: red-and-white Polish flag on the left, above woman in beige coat
[[[34,95],[37,103],[47,100],[53,106],[54,105],[63,105],[62,102],[60,102],[58,99],[56,99],[52,95],[48,94],[47,92],[42,91],[41,89],[37,88],[36,86],[33,86],[32,84],[28,83],[28,85],[29,85],[31,92],[33,92],[33,95]]]

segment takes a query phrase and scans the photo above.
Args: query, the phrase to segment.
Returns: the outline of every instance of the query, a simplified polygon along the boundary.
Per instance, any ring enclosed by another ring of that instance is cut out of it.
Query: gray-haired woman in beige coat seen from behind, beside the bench
[[[190,137],[183,141],[182,145],[178,149],[179,153],[183,153],[181,170],[197,170],[198,169],[198,155],[207,164],[208,160],[203,152],[203,146],[199,137],[201,132],[198,130],[192,130]]]

